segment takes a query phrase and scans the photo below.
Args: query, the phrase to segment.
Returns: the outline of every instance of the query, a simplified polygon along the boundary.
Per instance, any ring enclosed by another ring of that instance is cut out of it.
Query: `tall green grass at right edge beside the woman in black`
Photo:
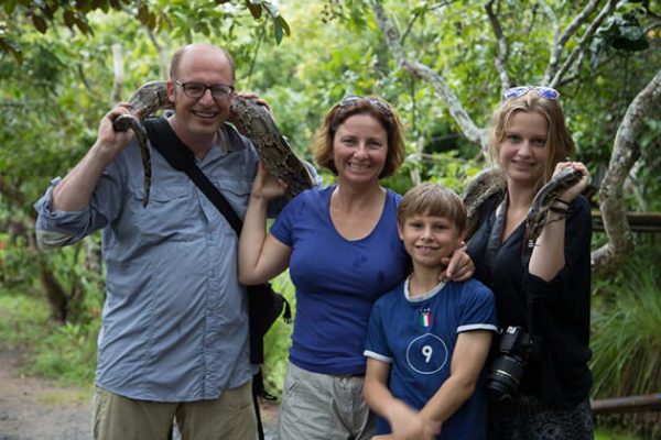
[[[661,389],[661,253],[639,250],[608,279],[595,279],[590,348],[593,396],[626,397]],[[600,417],[646,438],[661,438],[657,417]],[[651,436],[651,437],[650,437]]]

